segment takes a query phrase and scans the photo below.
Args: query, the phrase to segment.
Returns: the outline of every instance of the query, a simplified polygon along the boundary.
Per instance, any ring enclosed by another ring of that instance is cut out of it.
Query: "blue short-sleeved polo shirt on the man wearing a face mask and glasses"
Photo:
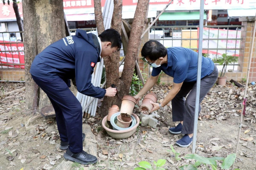
[[[174,83],[194,82],[197,77],[198,53],[182,47],[167,48],[167,63],[152,70],[152,76],[160,74],[161,70],[173,77]],[[214,63],[210,58],[202,56],[201,78],[210,75],[214,69]]]

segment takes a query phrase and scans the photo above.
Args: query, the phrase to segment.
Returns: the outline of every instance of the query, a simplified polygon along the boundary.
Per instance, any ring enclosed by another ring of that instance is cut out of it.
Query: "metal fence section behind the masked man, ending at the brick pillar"
[[[166,48],[185,47],[196,51],[199,40],[198,28],[199,26],[152,26],[149,39],[159,41]],[[241,28],[240,25],[204,26],[202,55],[213,60],[222,54],[237,57],[242,40]],[[229,69],[235,70],[238,63],[229,65],[232,66]]]

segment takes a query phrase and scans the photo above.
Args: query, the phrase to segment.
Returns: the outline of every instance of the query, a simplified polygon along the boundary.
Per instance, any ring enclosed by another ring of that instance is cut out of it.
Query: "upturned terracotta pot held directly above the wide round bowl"
[[[131,117],[133,108],[136,104],[136,99],[132,96],[124,96],[122,99],[121,105],[121,115],[126,115],[127,117]]]

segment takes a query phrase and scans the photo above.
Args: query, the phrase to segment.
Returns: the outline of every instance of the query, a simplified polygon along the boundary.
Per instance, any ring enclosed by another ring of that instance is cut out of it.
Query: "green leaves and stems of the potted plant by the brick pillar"
[[[221,57],[214,59],[214,63],[218,63],[219,65],[223,65],[223,68],[220,73],[220,77],[224,77],[228,64],[237,62],[238,57],[237,56],[231,56],[227,54],[222,54]]]

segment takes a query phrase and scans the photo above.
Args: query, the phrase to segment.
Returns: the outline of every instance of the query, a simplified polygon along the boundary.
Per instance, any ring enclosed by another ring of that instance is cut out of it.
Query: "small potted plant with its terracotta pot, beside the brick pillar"
[[[218,85],[226,85],[227,77],[225,76],[228,64],[237,62],[237,56],[231,56],[227,54],[222,54],[217,59],[214,59],[214,63],[218,63],[219,65],[223,65],[222,70],[220,72],[220,77],[218,77]]]

